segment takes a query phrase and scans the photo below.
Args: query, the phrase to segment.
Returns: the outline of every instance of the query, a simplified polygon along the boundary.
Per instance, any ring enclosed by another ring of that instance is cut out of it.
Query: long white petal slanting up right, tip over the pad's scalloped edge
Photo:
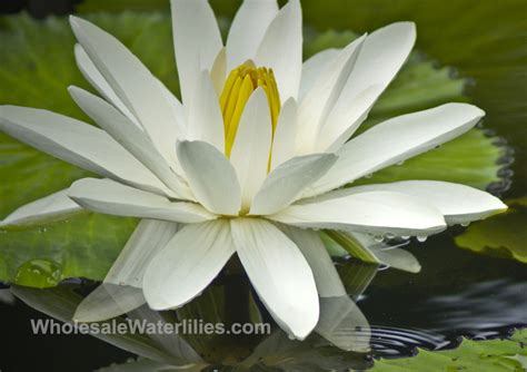
[[[398,116],[352,138],[338,160],[306,196],[351,183],[454,139],[473,128],[485,112],[467,104],[447,104]]]

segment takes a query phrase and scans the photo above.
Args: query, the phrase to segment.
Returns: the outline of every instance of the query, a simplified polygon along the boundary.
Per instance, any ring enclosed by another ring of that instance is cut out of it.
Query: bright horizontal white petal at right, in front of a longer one
[[[330,196],[295,204],[269,218],[298,227],[359,233],[429,235],[446,228],[439,211],[420,198],[394,192]]]

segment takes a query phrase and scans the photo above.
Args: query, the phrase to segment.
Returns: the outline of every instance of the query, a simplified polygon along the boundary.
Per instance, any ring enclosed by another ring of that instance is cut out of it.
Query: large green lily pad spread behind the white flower
[[[92,14],[91,21],[122,40],[172,91],[178,92],[168,13]],[[87,120],[66,88],[88,88],[73,59],[73,36],[66,19],[43,22],[27,16],[2,19],[0,28],[0,104],[46,108]],[[352,32],[329,32],[307,38],[306,56],[341,47]],[[448,69],[434,68],[415,55],[372,112],[369,125],[391,115],[467,100],[465,80]],[[456,143],[379,172],[369,182],[431,178],[485,187],[497,179],[501,149],[479,130]],[[474,151],[461,151],[470,148]],[[415,163],[415,165],[412,165]],[[446,172],[448,167],[448,173]],[[68,187],[89,176],[82,169],[39,153],[0,134],[0,218],[17,207]],[[406,178],[405,178],[406,177]],[[131,218],[79,214],[67,221],[0,234],[0,280],[27,286],[52,286],[67,277],[102,280],[137,222]],[[51,273],[51,274],[49,274]]]

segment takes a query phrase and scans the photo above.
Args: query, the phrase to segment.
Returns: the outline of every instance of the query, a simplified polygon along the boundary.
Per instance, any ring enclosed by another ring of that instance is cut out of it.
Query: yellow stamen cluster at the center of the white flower
[[[223,91],[220,96],[227,156],[230,156],[243,108],[246,107],[250,95],[258,87],[261,87],[266,91],[271,114],[272,133],[275,133],[278,114],[280,112],[280,96],[278,95],[275,74],[270,68],[257,68],[255,63],[247,61],[235,68],[229,74],[229,77],[225,82]]]

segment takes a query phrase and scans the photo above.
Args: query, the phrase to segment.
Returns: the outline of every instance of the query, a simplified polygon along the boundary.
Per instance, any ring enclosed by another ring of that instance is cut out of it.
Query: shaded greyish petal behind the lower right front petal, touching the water
[[[320,297],[346,296],[346,288],[318,233],[292,226],[280,226],[296,244],[311,267]]]

